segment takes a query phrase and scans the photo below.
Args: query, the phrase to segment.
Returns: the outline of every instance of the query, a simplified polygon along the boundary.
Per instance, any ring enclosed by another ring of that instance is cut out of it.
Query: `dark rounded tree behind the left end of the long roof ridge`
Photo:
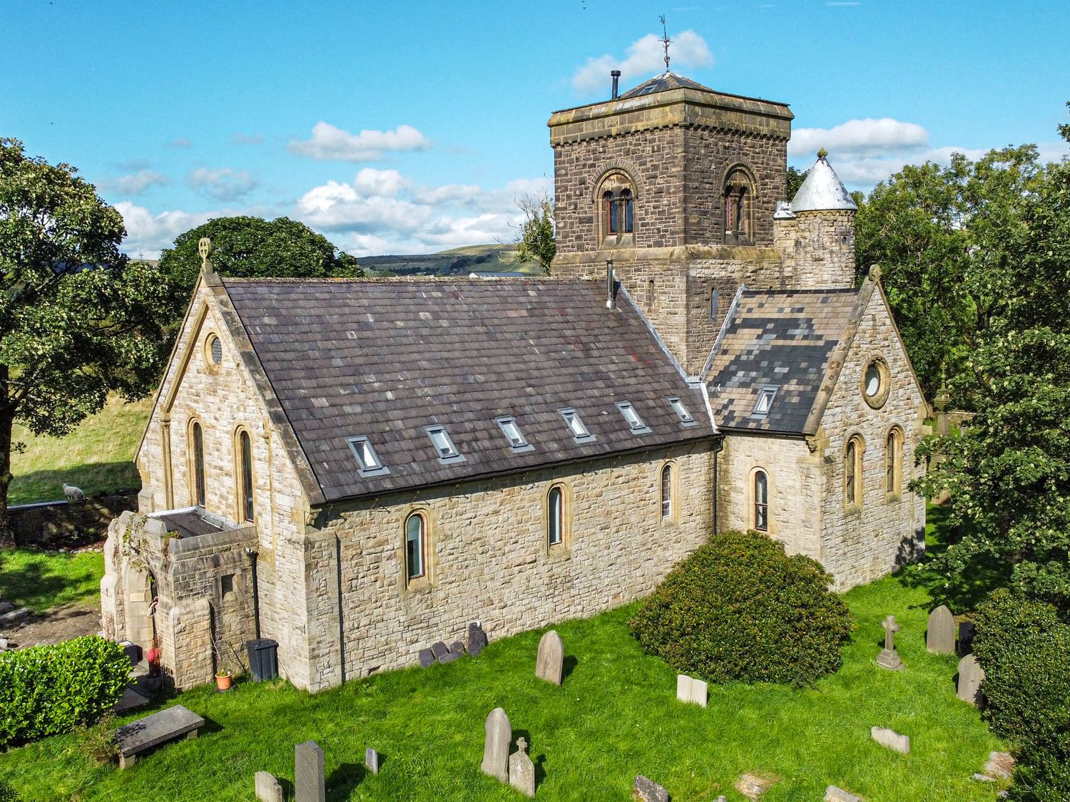
[[[223,276],[325,278],[363,276],[356,258],[339,251],[322,234],[288,217],[218,217],[174,241],[159,256],[160,269],[171,278],[184,307],[189,302],[201,260],[197,243],[212,240],[212,265]]]

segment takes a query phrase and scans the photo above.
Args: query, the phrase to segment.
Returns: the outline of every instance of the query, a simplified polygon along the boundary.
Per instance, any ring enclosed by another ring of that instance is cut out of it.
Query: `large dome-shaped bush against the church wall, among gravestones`
[[[810,684],[840,667],[851,630],[831,582],[756,531],[715,535],[643,601],[631,632],[682,674]]]

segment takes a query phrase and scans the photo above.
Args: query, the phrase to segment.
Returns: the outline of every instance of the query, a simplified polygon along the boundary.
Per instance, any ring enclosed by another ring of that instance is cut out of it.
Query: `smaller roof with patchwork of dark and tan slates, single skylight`
[[[718,428],[813,434],[874,282],[852,290],[744,291],[706,376]],[[776,387],[755,416],[763,387]]]

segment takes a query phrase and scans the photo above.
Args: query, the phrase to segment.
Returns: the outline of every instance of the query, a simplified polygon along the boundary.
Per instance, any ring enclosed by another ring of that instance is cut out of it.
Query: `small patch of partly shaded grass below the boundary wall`
[[[72,602],[98,602],[102,576],[104,555],[100,552],[0,551],[0,599],[34,613]]]

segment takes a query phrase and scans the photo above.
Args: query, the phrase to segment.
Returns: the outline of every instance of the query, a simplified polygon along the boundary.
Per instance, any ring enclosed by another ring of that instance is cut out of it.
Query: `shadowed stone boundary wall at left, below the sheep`
[[[16,546],[72,549],[107,537],[108,524],[137,509],[137,491],[93,496],[83,502],[46,502],[7,508]]]

